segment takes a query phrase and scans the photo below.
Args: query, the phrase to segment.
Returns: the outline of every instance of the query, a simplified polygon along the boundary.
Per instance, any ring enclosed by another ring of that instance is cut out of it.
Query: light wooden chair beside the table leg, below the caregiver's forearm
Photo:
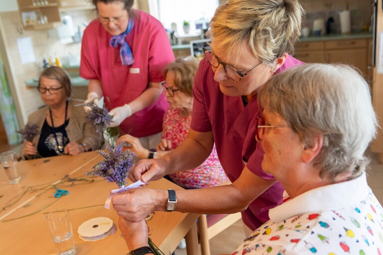
[[[222,182],[220,185],[230,184],[230,181]],[[223,230],[241,219],[241,213],[234,214],[201,214],[198,217],[198,234],[202,255],[210,255],[209,240],[221,233]]]

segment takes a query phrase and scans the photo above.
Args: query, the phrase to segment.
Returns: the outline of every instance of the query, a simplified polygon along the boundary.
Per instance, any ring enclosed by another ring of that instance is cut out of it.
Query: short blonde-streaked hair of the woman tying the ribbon
[[[301,34],[304,10],[298,0],[227,0],[218,6],[207,35],[229,54],[250,47],[253,54],[272,66],[292,51]]]

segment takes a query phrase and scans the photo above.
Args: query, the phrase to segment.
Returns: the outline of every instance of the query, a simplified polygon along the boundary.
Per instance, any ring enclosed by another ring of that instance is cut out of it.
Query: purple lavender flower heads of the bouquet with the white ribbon
[[[97,150],[97,153],[105,159],[93,166],[92,171],[85,172],[85,175],[98,175],[108,182],[115,182],[119,187],[125,186],[125,179],[134,165],[133,158],[136,154],[130,150],[122,151],[122,143],[109,146],[107,152]]]

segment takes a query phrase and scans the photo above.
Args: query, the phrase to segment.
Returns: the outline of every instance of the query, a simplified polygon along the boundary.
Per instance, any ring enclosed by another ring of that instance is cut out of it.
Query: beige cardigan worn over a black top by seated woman
[[[70,113],[69,123],[66,126],[65,130],[68,134],[69,141],[76,141],[77,143],[87,143],[91,146],[92,150],[99,149],[104,142],[104,138],[101,132],[97,132],[92,123],[86,121],[86,113],[82,106],[75,107],[74,104],[79,102],[74,102],[69,100],[68,112]],[[41,130],[49,107],[45,106],[34,113],[31,113],[28,116],[29,125],[37,125]],[[40,139],[40,134],[38,134],[33,139],[33,144],[37,145],[38,140]],[[21,151],[23,153],[24,150]],[[23,155],[24,158],[24,155]]]

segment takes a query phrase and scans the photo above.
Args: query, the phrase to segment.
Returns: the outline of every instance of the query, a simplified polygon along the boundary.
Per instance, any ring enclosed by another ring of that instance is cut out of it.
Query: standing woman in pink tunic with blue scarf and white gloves
[[[154,147],[169,108],[161,87],[164,68],[174,60],[167,32],[159,20],[134,9],[134,0],[92,2],[98,18],[81,44],[80,76],[89,80],[85,103],[104,96],[113,115],[110,126]]]

